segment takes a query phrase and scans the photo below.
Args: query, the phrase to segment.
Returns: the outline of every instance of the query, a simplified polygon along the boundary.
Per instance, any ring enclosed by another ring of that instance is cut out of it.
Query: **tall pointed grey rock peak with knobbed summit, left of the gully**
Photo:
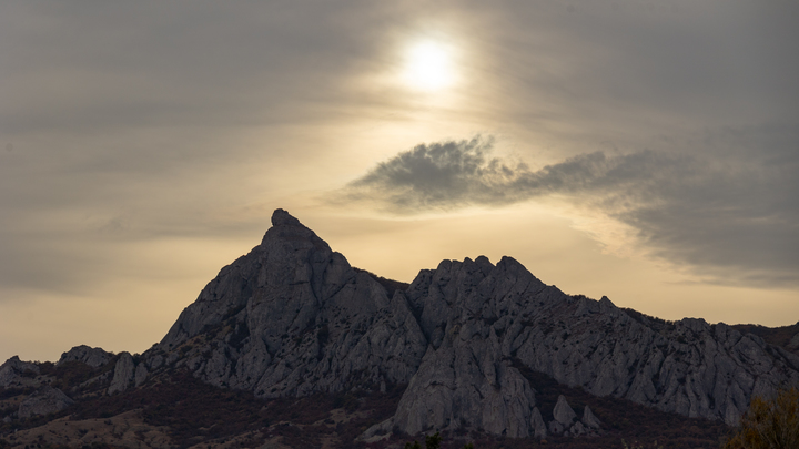
[[[272,224],[183,310],[148,365],[184,366],[262,398],[407,384],[427,348],[407,302],[285,211]]]

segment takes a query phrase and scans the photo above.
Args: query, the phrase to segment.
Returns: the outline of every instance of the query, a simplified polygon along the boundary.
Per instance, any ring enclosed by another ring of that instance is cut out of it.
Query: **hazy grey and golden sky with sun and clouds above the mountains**
[[[146,350],[279,207],[403,282],[797,323],[796,42],[787,0],[3,0],[0,360]]]

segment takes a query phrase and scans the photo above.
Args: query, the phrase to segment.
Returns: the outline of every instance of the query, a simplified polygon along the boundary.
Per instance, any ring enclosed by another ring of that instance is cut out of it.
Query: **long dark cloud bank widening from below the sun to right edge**
[[[401,152],[350,183],[338,201],[408,215],[557,194],[631,227],[648,254],[706,282],[797,286],[797,141],[787,126],[725,129],[699,150],[591,152],[530,170],[493,156],[494,140],[478,136]]]

